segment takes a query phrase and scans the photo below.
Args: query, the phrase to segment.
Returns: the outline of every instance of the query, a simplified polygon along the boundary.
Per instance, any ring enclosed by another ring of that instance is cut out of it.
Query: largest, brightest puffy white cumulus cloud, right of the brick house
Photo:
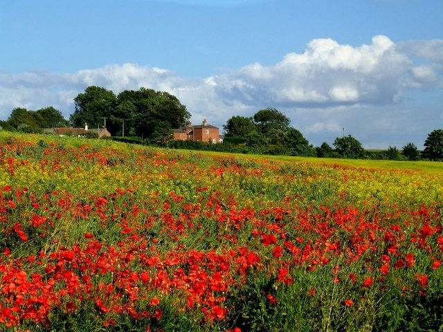
[[[226,100],[325,107],[389,104],[401,100],[404,88],[435,80],[434,68],[414,68],[412,60],[381,35],[359,47],[314,39],[304,52],[289,53],[274,66],[256,63],[212,78]]]

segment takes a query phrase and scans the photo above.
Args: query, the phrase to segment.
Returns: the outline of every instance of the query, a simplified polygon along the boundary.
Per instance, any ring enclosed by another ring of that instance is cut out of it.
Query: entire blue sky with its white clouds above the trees
[[[442,0],[5,1],[0,119],[96,85],[168,91],[222,127],[275,107],[313,145],[422,149],[443,128]]]

